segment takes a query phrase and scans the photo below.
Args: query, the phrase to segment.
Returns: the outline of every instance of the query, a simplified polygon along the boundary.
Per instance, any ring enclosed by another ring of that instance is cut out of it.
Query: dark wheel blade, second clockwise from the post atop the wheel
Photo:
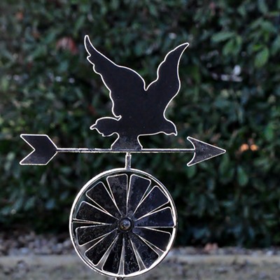
[[[162,193],[162,190],[160,190],[158,186],[155,186],[135,211],[134,218],[139,219],[140,217],[151,213],[151,211],[155,211],[155,209],[167,204],[167,202],[169,202],[169,200],[166,195]]]

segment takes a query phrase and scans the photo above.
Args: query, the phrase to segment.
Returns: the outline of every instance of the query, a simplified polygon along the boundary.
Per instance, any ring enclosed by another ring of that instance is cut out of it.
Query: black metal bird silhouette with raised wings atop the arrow
[[[93,65],[110,92],[115,118],[99,118],[91,130],[102,136],[118,134],[111,149],[141,150],[139,136],[158,133],[177,134],[176,126],[167,120],[167,106],[180,89],[179,61],[188,43],[168,52],[158,66],[158,77],[148,87],[136,71],[119,66],[102,55],[85,36],[87,60]]]

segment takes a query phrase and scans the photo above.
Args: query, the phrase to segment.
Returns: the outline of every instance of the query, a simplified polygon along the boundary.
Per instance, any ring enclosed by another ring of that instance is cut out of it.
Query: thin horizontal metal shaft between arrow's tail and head
[[[57,153],[195,153],[194,148],[144,148],[130,149],[104,149],[104,148],[57,148]]]

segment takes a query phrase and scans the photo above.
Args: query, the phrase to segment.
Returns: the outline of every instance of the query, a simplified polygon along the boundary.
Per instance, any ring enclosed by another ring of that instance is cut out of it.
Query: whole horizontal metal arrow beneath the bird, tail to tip
[[[207,144],[203,141],[188,137],[188,141],[193,144],[193,148],[142,148],[132,149],[104,149],[104,148],[57,148],[50,137],[45,134],[21,134],[20,137],[33,148],[21,162],[20,165],[48,165],[48,162],[57,153],[194,153],[192,160],[188,162],[188,167],[196,165],[198,162],[209,160],[225,153],[225,150]]]

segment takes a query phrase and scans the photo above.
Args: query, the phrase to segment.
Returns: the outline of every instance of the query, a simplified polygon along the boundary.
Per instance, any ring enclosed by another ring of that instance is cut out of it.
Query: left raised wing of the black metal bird
[[[102,80],[110,90],[110,97],[117,108],[117,102],[125,104],[127,99],[133,99],[134,95],[139,94],[139,90],[135,89],[144,89],[144,80],[136,71],[119,66],[102,55],[90,43],[88,36],[85,36],[85,48],[89,54],[87,60],[93,65],[94,71],[102,76]],[[137,96],[135,97],[137,98]],[[121,115],[120,111],[116,109],[114,111],[114,107],[113,113],[115,116]]]

